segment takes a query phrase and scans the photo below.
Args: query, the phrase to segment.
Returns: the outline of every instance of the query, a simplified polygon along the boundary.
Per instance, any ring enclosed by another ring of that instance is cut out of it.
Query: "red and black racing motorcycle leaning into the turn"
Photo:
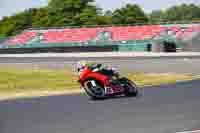
[[[101,64],[98,64],[94,70],[85,67],[79,74],[78,82],[90,98],[104,99],[119,95],[128,97],[138,95],[138,87],[133,81],[120,77],[115,70],[99,69],[100,67]]]

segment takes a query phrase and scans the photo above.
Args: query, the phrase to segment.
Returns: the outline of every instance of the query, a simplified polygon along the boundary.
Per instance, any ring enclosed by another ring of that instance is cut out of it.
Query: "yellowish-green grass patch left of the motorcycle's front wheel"
[[[78,87],[69,71],[47,69],[0,69],[0,91],[64,90]]]

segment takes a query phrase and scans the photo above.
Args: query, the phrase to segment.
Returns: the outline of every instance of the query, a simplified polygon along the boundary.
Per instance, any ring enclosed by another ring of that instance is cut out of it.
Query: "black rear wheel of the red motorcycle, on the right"
[[[124,86],[125,96],[136,97],[138,95],[138,87],[133,81],[127,78],[121,78],[120,81]]]

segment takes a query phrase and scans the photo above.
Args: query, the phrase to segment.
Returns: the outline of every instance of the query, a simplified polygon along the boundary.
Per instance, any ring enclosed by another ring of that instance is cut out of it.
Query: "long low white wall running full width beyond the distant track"
[[[173,57],[173,58],[183,58],[183,57],[200,57],[200,52],[180,52],[180,53],[151,53],[151,52],[85,52],[85,53],[38,53],[38,54],[3,54],[2,57],[21,57],[21,58],[49,58],[49,57],[77,57],[77,58],[104,58],[104,57],[141,57],[141,58],[161,58],[161,57]]]

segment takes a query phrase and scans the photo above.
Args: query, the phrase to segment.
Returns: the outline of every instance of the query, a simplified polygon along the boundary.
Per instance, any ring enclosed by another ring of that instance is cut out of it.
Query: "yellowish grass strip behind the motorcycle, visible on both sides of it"
[[[175,83],[190,80],[184,74],[124,73],[139,86]],[[0,99],[42,96],[79,91],[77,75],[68,70],[0,68]]]

